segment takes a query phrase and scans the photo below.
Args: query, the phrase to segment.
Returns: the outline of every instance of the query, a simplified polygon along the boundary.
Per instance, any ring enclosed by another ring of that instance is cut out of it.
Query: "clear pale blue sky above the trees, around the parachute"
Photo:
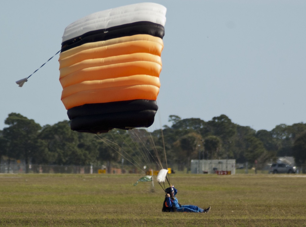
[[[86,3],[85,3],[86,2]],[[143,1],[2,1],[0,129],[11,112],[43,125],[68,120],[58,55],[66,26],[90,13]],[[255,130],[306,121],[306,1],[154,1],[167,8],[159,111],[226,114]]]

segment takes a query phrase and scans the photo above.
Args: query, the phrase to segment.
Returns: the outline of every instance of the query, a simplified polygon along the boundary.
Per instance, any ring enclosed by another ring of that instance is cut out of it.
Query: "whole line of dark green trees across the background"
[[[210,121],[170,115],[171,126],[147,132],[113,129],[100,135],[74,132],[69,121],[40,126],[20,113],[10,113],[8,127],[0,130],[0,157],[39,165],[123,165],[142,168],[143,163],[175,165],[190,169],[192,159],[236,159],[260,169],[280,156],[293,156],[297,165],[306,161],[306,124],[277,125],[256,131],[234,124],[222,114]],[[166,154],[166,155],[165,155]],[[157,164],[156,164],[157,165]]]

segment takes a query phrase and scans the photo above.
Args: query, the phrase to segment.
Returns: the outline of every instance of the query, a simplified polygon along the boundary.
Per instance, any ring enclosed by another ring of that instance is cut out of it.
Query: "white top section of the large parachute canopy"
[[[149,21],[165,26],[166,7],[157,3],[146,2],[92,13],[68,25],[65,28],[62,42],[86,32],[139,21]]]

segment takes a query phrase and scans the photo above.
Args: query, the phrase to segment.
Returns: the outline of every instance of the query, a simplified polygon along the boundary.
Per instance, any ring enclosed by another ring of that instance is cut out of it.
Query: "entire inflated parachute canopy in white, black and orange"
[[[164,6],[139,3],[93,13],[65,28],[59,70],[72,130],[153,124],[165,23]]]

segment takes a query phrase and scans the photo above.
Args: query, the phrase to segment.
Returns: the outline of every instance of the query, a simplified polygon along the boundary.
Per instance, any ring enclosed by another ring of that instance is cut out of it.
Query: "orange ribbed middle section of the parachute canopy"
[[[133,35],[86,43],[60,54],[62,102],[68,110],[91,103],[156,100],[162,39]]]

